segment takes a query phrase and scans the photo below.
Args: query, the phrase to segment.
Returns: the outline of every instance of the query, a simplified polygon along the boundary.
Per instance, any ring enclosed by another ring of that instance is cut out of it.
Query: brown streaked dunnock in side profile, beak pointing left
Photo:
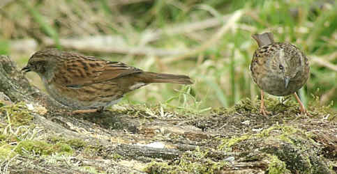
[[[36,72],[47,93],[73,113],[102,111],[125,93],[151,83],[192,84],[186,75],[144,72],[121,62],[105,61],[57,49],[36,52],[23,72]]]

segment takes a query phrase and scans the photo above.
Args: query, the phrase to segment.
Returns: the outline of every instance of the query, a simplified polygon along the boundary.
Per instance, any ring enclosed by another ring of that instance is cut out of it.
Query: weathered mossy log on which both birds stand
[[[243,100],[211,113],[117,105],[69,114],[0,56],[0,173],[336,173],[336,113],[312,118],[270,99],[274,114]],[[31,108],[29,108],[29,106]],[[268,106],[268,104],[267,104]],[[42,108],[42,109],[41,109]],[[43,110],[45,109],[45,110]],[[33,116],[25,122],[18,115]],[[10,121],[9,121],[10,120]],[[20,131],[24,129],[24,131]],[[36,145],[32,145],[36,142]],[[38,145],[39,144],[39,145]],[[8,152],[8,154],[6,154]]]

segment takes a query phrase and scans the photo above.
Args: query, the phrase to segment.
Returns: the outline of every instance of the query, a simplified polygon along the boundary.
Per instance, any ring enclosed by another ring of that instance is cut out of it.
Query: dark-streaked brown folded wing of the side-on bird
[[[91,84],[142,72],[121,62],[111,62],[91,56],[76,56],[59,63],[54,80],[63,86],[80,88]]]

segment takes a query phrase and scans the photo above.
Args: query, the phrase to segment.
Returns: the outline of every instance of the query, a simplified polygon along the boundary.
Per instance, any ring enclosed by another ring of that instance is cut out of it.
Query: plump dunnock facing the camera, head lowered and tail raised
[[[276,96],[294,94],[301,113],[307,113],[296,94],[309,77],[306,55],[294,45],[274,42],[272,33],[255,34],[252,37],[259,45],[253,55],[250,71],[253,80],[261,89],[261,113],[267,116],[263,102],[264,91]]]

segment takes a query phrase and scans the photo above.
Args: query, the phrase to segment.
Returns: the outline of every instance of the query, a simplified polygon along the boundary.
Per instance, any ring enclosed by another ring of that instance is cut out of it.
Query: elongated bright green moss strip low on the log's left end
[[[58,152],[62,154],[70,155],[73,153],[73,149],[70,147],[70,145],[67,145],[66,143],[56,143],[56,144],[50,144],[46,143],[45,141],[21,141],[17,148],[15,149],[17,153],[20,153],[21,155],[24,154],[24,152],[34,152],[38,155],[51,155],[52,153]]]

